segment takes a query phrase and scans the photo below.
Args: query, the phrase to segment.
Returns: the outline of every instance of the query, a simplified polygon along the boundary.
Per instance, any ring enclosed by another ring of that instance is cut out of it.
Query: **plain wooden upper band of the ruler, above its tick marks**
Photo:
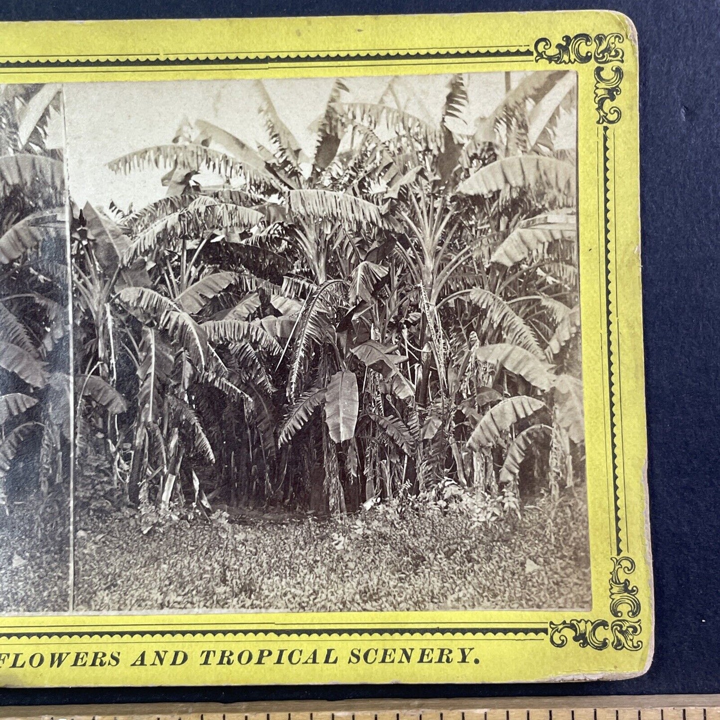
[[[127,703],[84,705],[37,705],[0,707],[0,718],[71,718],[154,716],[246,715],[277,713],[382,713],[460,712],[485,710],[556,710],[579,708],[632,709],[718,708],[720,694],[702,695],[603,695],[511,698],[402,699],[362,698],[341,701],[253,701],[248,703]]]

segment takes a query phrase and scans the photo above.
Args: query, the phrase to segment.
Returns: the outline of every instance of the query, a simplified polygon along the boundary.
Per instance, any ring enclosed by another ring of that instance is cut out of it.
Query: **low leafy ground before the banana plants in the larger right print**
[[[491,526],[438,508],[344,519],[78,521],[76,609],[588,608],[585,488]]]

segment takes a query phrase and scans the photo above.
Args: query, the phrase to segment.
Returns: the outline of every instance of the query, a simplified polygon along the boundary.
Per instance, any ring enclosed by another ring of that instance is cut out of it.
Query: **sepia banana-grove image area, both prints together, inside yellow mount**
[[[0,611],[590,608],[575,72],[2,93]]]

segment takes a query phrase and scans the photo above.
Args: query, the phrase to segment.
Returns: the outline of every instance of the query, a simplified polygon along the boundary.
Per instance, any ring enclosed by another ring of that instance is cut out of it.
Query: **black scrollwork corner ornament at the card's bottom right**
[[[580,647],[593,650],[639,650],[642,640],[637,636],[642,631],[639,620],[633,620],[640,614],[638,589],[625,577],[635,572],[635,561],[626,555],[611,558],[613,569],[610,572],[610,612],[616,620],[612,622],[598,618],[596,620],[576,619],[550,623],[549,639],[555,647],[565,647],[569,642],[577,642]]]

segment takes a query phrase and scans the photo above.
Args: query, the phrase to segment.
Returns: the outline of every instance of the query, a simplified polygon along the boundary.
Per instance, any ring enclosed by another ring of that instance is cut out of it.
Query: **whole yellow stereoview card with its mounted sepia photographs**
[[[563,17],[614,30],[0,58],[7,683],[647,667],[634,40]]]

